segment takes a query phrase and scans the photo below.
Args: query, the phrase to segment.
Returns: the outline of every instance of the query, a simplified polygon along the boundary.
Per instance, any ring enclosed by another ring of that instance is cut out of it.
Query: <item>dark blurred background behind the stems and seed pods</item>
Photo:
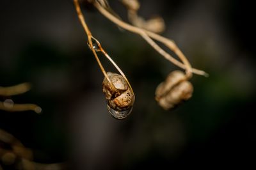
[[[93,35],[136,94],[131,116],[115,120],[72,1],[1,1],[0,86],[31,82],[31,91],[12,100],[38,104],[43,112],[0,111],[0,128],[31,148],[35,162],[67,162],[70,169],[255,163],[252,3],[140,2],[140,15],[163,17],[163,35],[179,45],[195,68],[209,73],[209,78],[193,76],[191,100],[173,111],[161,109],[154,100],[156,86],[179,68],[140,36],[118,29],[97,10],[84,10]],[[110,4],[127,20],[120,2]],[[103,57],[102,63],[115,71]]]

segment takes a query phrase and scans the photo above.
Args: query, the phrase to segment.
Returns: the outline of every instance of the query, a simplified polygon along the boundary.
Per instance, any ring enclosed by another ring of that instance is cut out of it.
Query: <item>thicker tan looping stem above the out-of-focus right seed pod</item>
[[[140,27],[135,27],[130,24],[127,24],[126,22],[123,22],[122,20],[117,19],[115,16],[113,16],[111,13],[109,13],[107,10],[105,10],[100,4],[95,1],[94,3],[95,7],[99,10],[102,15],[107,17],[109,20],[117,24],[118,26],[127,29],[128,31],[131,31],[132,33],[136,33],[138,35],[141,35],[154,49],[156,49],[164,58],[168,59],[168,61],[172,62],[174,65],[179,66],[180,68],[186,69],[188,77],[191,76],[191,73],[196,73],[198,75],[204,75],[207,77],[207,73],[205,73],[202,70],[198,70],[195,68],[191,68],[191,65],[188,61],[188,59],[184,56],[184,54],[180,51],[180,49],[177,47],[177,45],[168,38],[164,38],[163,36],[157,35],[156,33],[152,33],[151,31],[147,31],[145,29],[141,29]],[[151,38],[150,38],[151,37]],[[157,45],[156,42],[154,42],[155,39],[164,45],[168,47],[169,49],[173,50],[175,54],[180,58],[180,60],[184,63],[180,63],[177,59],[173,58],[170,54],[165,52],[159,45]]]

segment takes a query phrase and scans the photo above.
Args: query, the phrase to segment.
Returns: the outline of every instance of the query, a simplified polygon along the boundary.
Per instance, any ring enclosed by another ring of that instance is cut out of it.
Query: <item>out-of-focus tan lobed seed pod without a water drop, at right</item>
[[[180,71],[171,72],[156,89],[156,100],[163,109],[172,109],[177,104],[192,97],[193,85]]]

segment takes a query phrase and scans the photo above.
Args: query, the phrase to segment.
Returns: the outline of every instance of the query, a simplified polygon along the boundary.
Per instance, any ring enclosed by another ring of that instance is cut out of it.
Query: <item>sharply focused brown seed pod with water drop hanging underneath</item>
[[[126,118],[132,111],[134,104],[134,93],[122,75],[108,72],[108,77],[113,84],[104,78],[102,82],[103,93],[105,94],[108,111],[119,120]]]

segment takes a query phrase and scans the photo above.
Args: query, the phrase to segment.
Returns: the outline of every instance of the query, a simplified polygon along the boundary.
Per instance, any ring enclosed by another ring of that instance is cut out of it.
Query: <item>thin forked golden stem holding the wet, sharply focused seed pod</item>
[[[111,88],[113,88],[114,90],[116,90],[115,86],[113,86],[112,82],[110,81],[109,77],[108,77],[108,74],[106,73],[106,70],[104,69],[104,67],[102,66],[102,63],[100,62],[100,59],[99,57],[97,56],[97,53],[95,51],[95,49],[93,48],[93,43],[92,43],[92,39],[97,43],[97,46],[99,49],[100,52],[102,52],[102,54],[104,54],[104,56],[106,56],[106,58],[115,66],[116,70],[118,70],[118,72],[120,72],[120,74],[124,77],[125,81],[127,81],[129,87],[132,89],[131,87],[131,84],[129,83],[128,79],[126,78],[124,72],[122,72],[122,70],[118,67],[118,65],[116,65],[115,61],[113,61],[113,59],[111,59],[111,57],[108,55],[108,53],[102,48],[102,46],[100,45],[100,42],[94,38],[92,36],[92,33],[90,31],[90,29],[88,28],[86,22],[85,22],[85,19],[84,19],[84,16],[83,16],[83,13],[81,12],[81,8],[80,8],[80,5],[79,5],[79,2],[78,0],[74,0],[74,4],[76,6],[76,11],[77,11],[77,15],[79,17],[79,20],[84,28],[84,31],[86,32],[86,35],[88,37],[88,44],[90,46],[90,49],[92,49],[92,52],[95,56],[95,59],[97,60],[99,66],[100,66],[100,70],[102,71],[102,73],[104,74],[104,77],[106,77],[106,79],[108,80],[108,82],[111,84]]]

